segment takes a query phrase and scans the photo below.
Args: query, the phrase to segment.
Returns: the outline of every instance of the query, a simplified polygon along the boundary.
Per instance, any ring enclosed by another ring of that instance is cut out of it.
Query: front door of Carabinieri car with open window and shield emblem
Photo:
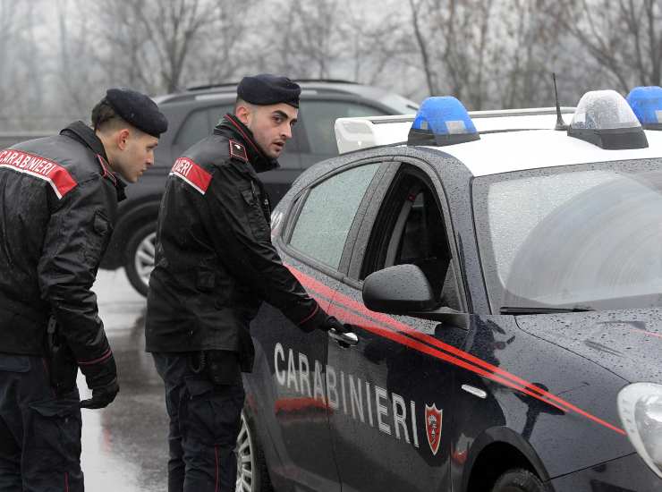
[[[331,312],[360,339],[328,349],[328,365],[339,379],[329,421],[344,492],[442,491],[450,484],[455,369],[448,360],[463,344],[466,327],[376,313],[361,296],[370,273],[413,263],[449,311],[464,310],[441,183],[423,163],[394,166],[332,299]]]

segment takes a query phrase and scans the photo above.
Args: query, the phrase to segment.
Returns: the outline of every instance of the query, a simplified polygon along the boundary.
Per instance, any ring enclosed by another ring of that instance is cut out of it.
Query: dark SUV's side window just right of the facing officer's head
[[[301,122],[308,136],[310,152],[335,156],[335,120],[357,116],[386,115],[375,107],[347,101],[301,101]]]

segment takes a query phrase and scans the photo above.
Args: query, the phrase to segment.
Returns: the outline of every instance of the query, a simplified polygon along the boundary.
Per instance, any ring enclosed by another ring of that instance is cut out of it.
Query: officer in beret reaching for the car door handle
[[[170,492],[234,490],[241,372],[252,368],[249,324],[262,301],[305,332],[346,331],[271,243],[259,173],[292,138],[300,93],[285,77],[245,77],[234,114],[174,162],[165,185],[146,338],[165,382]]]

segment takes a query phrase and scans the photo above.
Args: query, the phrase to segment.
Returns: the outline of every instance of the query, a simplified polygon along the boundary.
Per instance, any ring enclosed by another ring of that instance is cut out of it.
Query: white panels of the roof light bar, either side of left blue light
[[[573,118],[574,108],[562,107],[561,113],[564,123],[569,124]],[[554,107],[471,111],[469,115],[478,131],[551,129],[556,124],[556,108]],[[344,154],[362,148],[405,142],[415,116],[338,118],[335,121],[335,140],[338,151]]]

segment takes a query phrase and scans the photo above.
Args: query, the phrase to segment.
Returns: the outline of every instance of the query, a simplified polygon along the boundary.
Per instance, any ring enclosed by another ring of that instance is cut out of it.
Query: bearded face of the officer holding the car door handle
[[[299,110],[296,107],[277,104],[271,106],[250,105],[242,123],[253,132],[255,142],[267,157],[280,157],[285,142],[292,138],[292,127],[296,123]]]

